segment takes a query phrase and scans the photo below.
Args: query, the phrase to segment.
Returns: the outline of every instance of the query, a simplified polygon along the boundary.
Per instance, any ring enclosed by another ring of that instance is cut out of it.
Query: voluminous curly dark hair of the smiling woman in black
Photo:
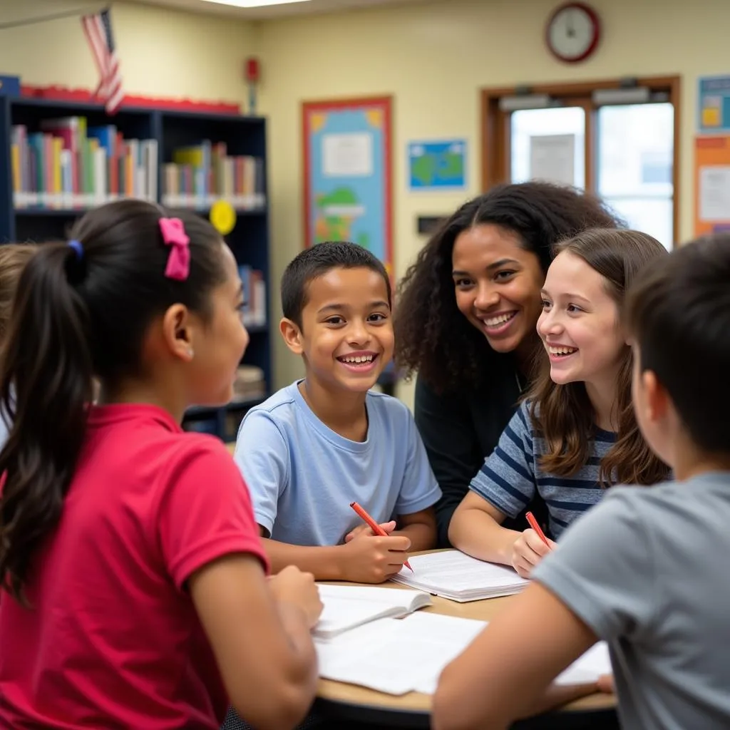
[[[451,276],[458,234],[488,223],[517,234],[544,272],[559,241],[585,228],[623,225],[596,196],[540,182],[497,185],[456,210],[401,280],[393,323],[396,363],[406,377],[418,371],[439,393],[477,387],[489,377],[489,358],[497,356],[456,307]]]

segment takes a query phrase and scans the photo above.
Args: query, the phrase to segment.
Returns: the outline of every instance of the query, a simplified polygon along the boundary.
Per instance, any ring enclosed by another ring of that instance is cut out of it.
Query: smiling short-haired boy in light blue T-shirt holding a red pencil
[[[291,261],[281,291],[280,331],[305,377],[247,413],[234,458],[274,572],[380,583],[408,550],[434,547],[441,496],[410,411],[370,390],[393,355],[388,274],[361,246],[323,243]]]

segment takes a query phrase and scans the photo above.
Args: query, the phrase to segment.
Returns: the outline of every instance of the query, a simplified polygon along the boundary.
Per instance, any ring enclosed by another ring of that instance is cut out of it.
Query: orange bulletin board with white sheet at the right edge
[[[730,136],[699,136],[694,146],[694,234],[730,231]]]

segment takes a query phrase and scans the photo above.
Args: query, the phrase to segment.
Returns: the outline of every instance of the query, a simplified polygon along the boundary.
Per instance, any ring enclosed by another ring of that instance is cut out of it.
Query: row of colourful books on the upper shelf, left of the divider
[[[43,120],[41,131],[12,127],[16,208],[88,208],[123,197],[157,200],[156,139],[124,139],[113,125],[85,117]]]

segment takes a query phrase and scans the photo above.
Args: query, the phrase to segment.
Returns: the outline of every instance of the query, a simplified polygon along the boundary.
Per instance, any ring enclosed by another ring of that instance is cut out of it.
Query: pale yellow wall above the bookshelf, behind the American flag
[[[0,0],[0,23],[80,7],[94,4]],[[245,99],[242,67],[253,50],[251,23],[125,2],[114,3],[112,23],[128,93],[206,101]],[[98,82],[79,18],[0,31],[0,70],[37,85],[89,89]]]

